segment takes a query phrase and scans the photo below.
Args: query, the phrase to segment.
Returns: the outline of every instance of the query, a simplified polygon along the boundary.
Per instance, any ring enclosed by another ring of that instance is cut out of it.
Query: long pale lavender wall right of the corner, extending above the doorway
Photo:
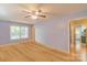
[[[40,21],[35,24],[35,40],[54,48],[69,52],[69,22],[84,17],[87,17],[87,10]]]

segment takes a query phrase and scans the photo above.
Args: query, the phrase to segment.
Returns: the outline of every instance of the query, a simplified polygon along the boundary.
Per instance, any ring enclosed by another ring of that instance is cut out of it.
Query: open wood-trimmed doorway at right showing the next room
[[[70,22],[70,54],[78,61],[87,61],[87,19]]]

